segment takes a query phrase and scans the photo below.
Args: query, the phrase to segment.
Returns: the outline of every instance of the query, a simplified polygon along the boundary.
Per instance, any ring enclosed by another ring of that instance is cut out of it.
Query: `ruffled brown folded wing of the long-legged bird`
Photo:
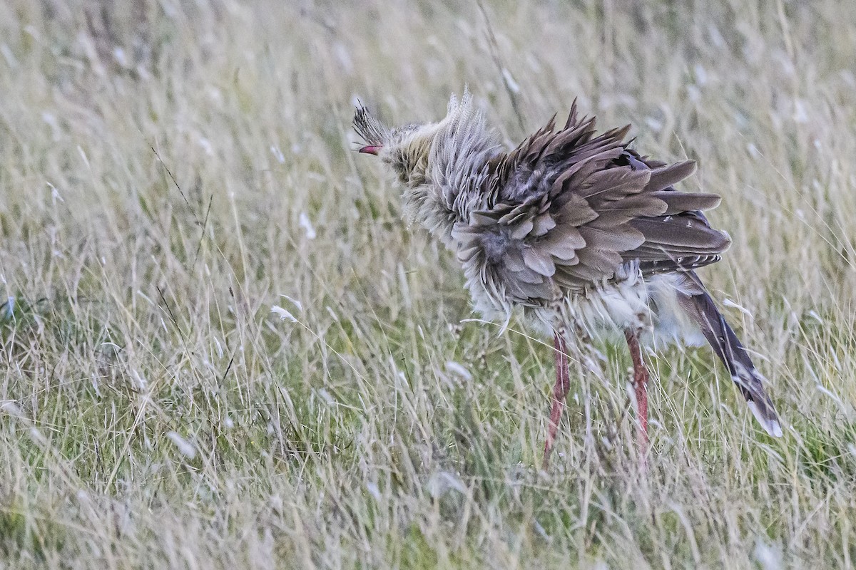
[[[645,274],[718,261],[730,239],[701,210],[719,197],[675,191],[695,163],[641,157],[627,149],[628,130],[596,136],[574,102],[564,127],[551,119],[488,162],[484,207],[453,232],[465,266],[515,303],[538,304],[612,279],[626,261]]]

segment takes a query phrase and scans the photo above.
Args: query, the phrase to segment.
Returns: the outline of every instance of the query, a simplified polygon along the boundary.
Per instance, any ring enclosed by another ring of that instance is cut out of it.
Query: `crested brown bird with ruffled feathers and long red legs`
[[[577,101],[509,150],[465,88],[434,122],[387,126],[362,103],[354,114],[360,153],[374,155],[401,185],[402,211],[451,250],[473,309],[508,326],[512,315],[552,338],[556,361],[544,467],[570,388],[568,344],[623,332],[633,361],[637,440],[649,445],[645,346],[651,339],[706,340],[773,437],[776,408],[734,330],[696,270],[731,245],[704,211],[721,197],[679,191],[696,163],[642,156],[630,126],[597,132]],[[574,344],[577,343],[577,344]]]

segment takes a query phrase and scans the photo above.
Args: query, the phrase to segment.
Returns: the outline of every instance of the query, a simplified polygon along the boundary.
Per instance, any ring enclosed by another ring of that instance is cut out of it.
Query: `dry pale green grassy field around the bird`
[[[0,3],[0,567],[856,564],[856,3],[544,4]],[[354,152],[465,84],[698,160],[784,438],[667,350],[640,477],[601,345],[539,470],[550,347]]]

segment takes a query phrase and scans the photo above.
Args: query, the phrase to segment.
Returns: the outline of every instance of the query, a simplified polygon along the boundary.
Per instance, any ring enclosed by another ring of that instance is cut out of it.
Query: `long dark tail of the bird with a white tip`
[[[764,392],[766,379],[755,369],[743,344],[740,344],[731,326],[728,326],[728,322],[716,309],[713,299],[707,291],[704,291],[704,286],[701,285],[698,277],[692,272],[687,273],[690,273],[691,279],[698,285],[698,290],[690,293],[679,292],[678,302],[681,303],[687,316],[701,328],[704,338],[710,343],[716,356],[719,356],[728,367],[728,373],[731,374],[731,379],[740,389],[740,393],[746,398],[752,415],[761,426],[764,426],[767,433],[781,438],[782,425],[779,422],[779,416],[770,397]]]

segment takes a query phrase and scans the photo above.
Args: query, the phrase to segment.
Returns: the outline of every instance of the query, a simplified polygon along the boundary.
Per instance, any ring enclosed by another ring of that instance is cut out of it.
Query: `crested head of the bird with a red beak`
[[[354,131],[366,143],[359,151],[380,158],[402,184],[415,186],[425,182],[431,143],[437,134],[436,123],[390,128],[360,106],[354,115]]]

